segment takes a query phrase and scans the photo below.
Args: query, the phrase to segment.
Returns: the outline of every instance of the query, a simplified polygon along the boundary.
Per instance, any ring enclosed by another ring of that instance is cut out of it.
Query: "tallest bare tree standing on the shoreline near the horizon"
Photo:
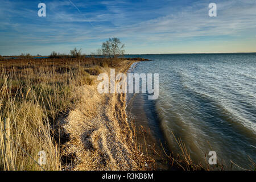
[[[108,56],[110,58],[111,64],[113,65],[113,60],[119,55],[123,55],[123,53],[125,53],[125,50],[123,49],[124,47],[125,44],[122,44],[120,39],[109,38],[109,40],[102,43],[101,54]]]

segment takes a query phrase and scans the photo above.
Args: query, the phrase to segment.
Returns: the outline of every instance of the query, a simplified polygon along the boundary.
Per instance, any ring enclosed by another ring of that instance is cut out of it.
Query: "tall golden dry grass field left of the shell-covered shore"
[[[0,170],[42,170],[35,162],[39,151],[47,155],[44,169],[61,169],[55,122],[79,101],[78,88],[93,84],[85,68],[102,63],[100,59],[0,61]],[[4,150],[5,118],[10,118],[10,159]]]

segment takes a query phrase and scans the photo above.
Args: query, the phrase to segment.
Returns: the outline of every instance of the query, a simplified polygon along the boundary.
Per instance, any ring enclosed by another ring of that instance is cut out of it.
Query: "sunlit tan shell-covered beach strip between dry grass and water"
[[[135,61],[123,61],[115,74],[125,73]],[[104,72],[110,74],[110,68]],[[73,156],[71,170],[143,170],[145,157],[134,141],[125,112],[125,94],[99,94],[95,83],[81,88],[81,100],[61,123],[63,155]],[[146,168],[148,169],[148,168]]]

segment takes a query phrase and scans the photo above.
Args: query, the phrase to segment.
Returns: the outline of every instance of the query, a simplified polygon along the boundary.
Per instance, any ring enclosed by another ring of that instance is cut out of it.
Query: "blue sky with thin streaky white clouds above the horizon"
[[[38,16],[39,3],[46,17]],[[209,3],[217,16],[210,17]],[[128,54],[256,52],[255,0],[0,0],[0,55],[90,54],[117,37]]]

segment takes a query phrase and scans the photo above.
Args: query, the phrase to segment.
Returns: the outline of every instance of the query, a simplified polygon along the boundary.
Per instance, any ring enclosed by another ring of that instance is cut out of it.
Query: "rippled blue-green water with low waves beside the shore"
[[[131,72],[159,73],[159,98],[128,94],[127,110],[147,121],[174,153],[171,131],[195,162],[214,150],[217,159],[249,168],[256,162],[256,54],[129,55]]]

